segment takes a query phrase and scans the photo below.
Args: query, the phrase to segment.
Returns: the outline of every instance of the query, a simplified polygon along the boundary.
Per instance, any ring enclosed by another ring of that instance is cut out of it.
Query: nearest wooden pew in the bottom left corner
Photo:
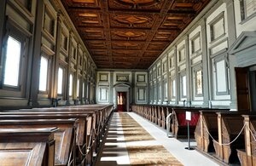
[[[57,128],[0,129],[0,165],[55,165]]]

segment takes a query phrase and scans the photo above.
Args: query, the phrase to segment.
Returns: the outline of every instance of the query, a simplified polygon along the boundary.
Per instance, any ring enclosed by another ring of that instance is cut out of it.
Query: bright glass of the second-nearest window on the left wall
[[[40,64],[39,90],[47,90],[48,60],[42,56]]]

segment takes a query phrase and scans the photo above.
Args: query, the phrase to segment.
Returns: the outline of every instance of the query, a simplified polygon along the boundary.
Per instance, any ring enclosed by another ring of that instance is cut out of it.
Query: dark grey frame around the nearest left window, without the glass
[[[32,34],[26,31],[20,25],[18,25],[15,20],[12,20],[6,16],[6,31],[3,36],[3,49],[2,54],[0,54],[0,93],[4,94],[6,97],[26,97],[26,76],[28,59],[30,56],[29,48],[31,46]],[[9,86],[3,84],[4,82],[4,72],[5,72],[5,60],[7,51],[7,42],[9,36],[14,37],[20,42],[20,66],[19,66],[19,78],[18,86]]]

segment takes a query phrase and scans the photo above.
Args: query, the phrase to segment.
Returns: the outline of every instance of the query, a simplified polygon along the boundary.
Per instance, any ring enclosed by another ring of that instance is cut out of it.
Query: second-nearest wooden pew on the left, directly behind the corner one
[[[0,120],[0,129],[44,129],[55,128],[55,165],[76,165],[75,160],[75,128],[76,119],[23,119]]]

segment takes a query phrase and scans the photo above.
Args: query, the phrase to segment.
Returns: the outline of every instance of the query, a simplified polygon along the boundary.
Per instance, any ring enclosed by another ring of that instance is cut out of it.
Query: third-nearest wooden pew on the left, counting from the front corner
[[[92,140],[92,114],[76,114],[76,113],[57,113],[49,114],[44,112],[0,112],[0,120],[17,120],[17,119],[69,119],[76,118],[78,126],[76,128],[76,154],[77,163],[92,164],[92,151],[90,146]],[[86,157],[85,155],[86,154]]]

